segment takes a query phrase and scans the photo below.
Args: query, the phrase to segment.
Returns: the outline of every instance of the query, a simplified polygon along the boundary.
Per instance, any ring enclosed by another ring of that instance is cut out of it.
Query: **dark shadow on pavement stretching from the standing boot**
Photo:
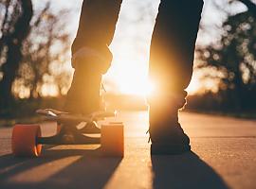
[[[224,180],[193,152],[152,156],[153,188],[228,189]]]

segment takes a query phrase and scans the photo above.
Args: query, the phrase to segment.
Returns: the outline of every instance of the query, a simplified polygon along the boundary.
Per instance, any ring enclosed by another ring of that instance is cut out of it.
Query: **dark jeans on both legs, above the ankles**
[[[73,54],[82,47],[109,53],[121,0],[84,0]],[[203,0],[161,0],[151,43],[150,77],[162,94],[186,96]],[[107,56],[107,55],[106,55]],[[110,61],[102,61],[104,72]]]

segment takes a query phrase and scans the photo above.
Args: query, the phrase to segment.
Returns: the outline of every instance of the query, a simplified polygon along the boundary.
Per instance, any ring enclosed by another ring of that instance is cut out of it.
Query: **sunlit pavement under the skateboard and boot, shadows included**
[[[192,153],[149,154],[147,112],[120,112],[123,159],[99,146],[45,146],[37,159],[10,154],[11,129],[0,129],[0,188],[256,188],[256,121],[181,113]],[[43,126],[46,135],[54,125]]]

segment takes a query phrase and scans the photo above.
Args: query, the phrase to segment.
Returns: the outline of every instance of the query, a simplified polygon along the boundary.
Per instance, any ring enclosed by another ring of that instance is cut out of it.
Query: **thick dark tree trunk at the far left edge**
[[[12,101],[11,86],[22,59],[21,47],[30,30],[33,15],[31,0],[5,0],[5,16],[1,26],[0,53],[2,79],[0,80],[0,105]],[[2,57],[2,56],[1,56]]]

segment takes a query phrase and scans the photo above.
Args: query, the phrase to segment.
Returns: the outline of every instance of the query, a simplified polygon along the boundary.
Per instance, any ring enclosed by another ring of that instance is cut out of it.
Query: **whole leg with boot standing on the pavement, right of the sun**
[[[192,78],[194,46],[203,0],[162,0],[151,44],[149,75],[155,94],[149,97],[152,154],[190,150],[190,139],[178,123]]]

